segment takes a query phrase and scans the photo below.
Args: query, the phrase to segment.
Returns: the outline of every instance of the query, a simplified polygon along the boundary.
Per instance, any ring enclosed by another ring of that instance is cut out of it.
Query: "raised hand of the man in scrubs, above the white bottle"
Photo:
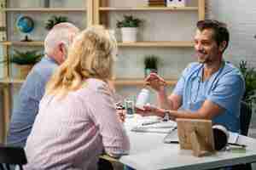
[[[164,90],[166,87],[166,81],[154,72],[150,73],[148,77],[146,77],[145,81],[146,85],[150,86],[157,92]]]

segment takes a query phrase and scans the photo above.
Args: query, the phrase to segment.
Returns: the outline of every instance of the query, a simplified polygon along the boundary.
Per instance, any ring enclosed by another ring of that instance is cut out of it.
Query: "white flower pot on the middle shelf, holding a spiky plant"
[[[121,31],[123,42],[137,42],[137,28],[123,27]]]

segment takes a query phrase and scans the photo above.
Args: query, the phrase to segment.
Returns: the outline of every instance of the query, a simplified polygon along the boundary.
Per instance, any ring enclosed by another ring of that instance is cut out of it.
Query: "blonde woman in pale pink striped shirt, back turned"
[[[108,81],[117,45],[102,26],[75,37],[51,77],[32,133],[25,169],[96,169],[98,156],[127,154],[130,144]]]

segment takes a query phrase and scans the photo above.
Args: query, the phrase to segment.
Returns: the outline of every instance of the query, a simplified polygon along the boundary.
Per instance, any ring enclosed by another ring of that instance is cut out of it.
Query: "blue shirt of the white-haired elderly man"
[[[44,95],[45,85],[57,66],[54,59],[44,56],[26,77],[12,113],[7,144],[25,146],[38,114],[38,105]]]

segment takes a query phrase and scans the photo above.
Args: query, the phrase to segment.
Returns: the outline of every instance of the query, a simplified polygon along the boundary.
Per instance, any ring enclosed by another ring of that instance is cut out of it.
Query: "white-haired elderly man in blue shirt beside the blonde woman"
[[[9,125],[7,144],[25,146],[38,114],[38,105],[44,95],[45,84],[55,68],[66,59],[68,45],[77,33],[79,29],[73,24],[61,23],[54,26],[45,37],[44,58],[32,68],[20,88],[18,105],[14,108]]]

